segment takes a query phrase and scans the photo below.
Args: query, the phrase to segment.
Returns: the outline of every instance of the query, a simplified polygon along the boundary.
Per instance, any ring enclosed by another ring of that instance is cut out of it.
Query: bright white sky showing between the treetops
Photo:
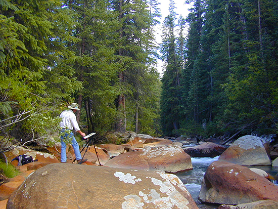
[[[161,20],[160,20],[160,25],[158,26],[157,29],[157,34],[156,34],[156,41],[158,44],[161,43],[161,32],[162,32],[162,24],[164,21],[164,18],[169,14],[169,0],[158,0],[160,2],[160,12],[161,12]],[[183,18],[186,18],[189,14],[188,9],[191,8],[190,5],[184,4],[184,0],[174,0],[175,3],[175,12],[178,14],[177,18],[182,15]],[[163,75],[163,63],[161,60],[158,60],[158,72],[160,75]]]

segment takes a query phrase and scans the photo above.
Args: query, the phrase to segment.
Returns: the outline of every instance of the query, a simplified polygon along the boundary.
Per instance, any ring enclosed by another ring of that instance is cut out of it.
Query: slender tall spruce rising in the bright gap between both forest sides
[[[166,135],[174,134],[179,129],[181,112],[180,76],[182,62],[180,62],[177,53],[176,13],[174,9],[174,2],[170,1],[169,15],[163,22],[161,45],[162,59],[166,63],[166,69],[162,77],[161,123],[162,131]]]

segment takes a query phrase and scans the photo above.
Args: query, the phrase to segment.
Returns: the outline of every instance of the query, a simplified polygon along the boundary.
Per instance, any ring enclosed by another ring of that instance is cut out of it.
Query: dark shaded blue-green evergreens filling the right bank
[[[169,59],[182,52],[170,51],[170,43],[186,46],[182,56],[182,88],[169,85],[172,80],[167,71],[163,78],[167,82],[162,80],[165,92],[161,116],[168,127],[164,133],[211,136],[233,134],[241,129],[244,134],[275,133],[278,48],[274,43],[278,34],[278,3],[272,0],[256,4],[250,0],[187,3],[193,3],[186,19],[188,37],[180,33],[171,42],[167,39],[168,45],[163,46],[164,53],[171,52],[171,56],[166,56]],[[173,71],[173,62],[168,62],[166,69]],[[173,102],[176,95],[182,95],[180,103]],[[179,110],[178,116],[173,110]],[[173,118],[180,118],[178,129],[171,122]]]

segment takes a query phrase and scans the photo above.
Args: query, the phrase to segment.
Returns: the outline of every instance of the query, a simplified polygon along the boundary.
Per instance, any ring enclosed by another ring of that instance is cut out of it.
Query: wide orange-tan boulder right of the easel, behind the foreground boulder
[[[169,173],[192,169],[191,157],[178,146],[126,152],[112,158],[105,165],[112,168],[158,170]]]

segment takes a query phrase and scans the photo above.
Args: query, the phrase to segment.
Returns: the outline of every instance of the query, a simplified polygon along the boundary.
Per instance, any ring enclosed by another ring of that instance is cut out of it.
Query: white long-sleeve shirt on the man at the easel
[[[80,131],[77,120],[76,120],[76,115],[74,112],[69,109],[65,110],[60,114],[60,117],[62,118],[62,121],[60,122],[60,127],[63,129],[69,129],[69,130],[75,130]]]

